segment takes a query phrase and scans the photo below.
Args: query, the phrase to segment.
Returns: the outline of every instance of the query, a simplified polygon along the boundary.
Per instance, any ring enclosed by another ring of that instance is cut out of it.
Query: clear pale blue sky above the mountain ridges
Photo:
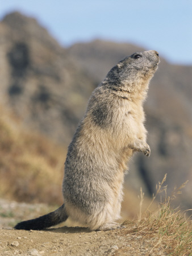
[[[192,65],[191,0],[0,0],[0,6],[0,18],[14,10],[34,16],[63,46],[95,38],[135,43]]]

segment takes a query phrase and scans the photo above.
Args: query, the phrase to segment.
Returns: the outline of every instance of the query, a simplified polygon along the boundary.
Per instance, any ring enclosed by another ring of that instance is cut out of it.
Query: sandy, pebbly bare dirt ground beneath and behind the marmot
[[[136,233],[132,222],[124,224],[123,229],[97,232],[66,226],[14,230],[16,222],[52,209],[44,204],[2,199],[0,206],[0,255],[166,255],[158,234]]]

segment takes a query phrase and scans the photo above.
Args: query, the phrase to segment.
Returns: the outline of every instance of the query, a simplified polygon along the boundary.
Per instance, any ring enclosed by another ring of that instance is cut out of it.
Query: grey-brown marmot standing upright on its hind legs
[[[91,94],[68,148],[62,185],[64,204],[55,212],[20,222],[15,229],[41,230],[68,216],[90,230],[120,227],[124,171],[133,152],[150,155],[143,101],[157,70],[158,52],[125,57]]]

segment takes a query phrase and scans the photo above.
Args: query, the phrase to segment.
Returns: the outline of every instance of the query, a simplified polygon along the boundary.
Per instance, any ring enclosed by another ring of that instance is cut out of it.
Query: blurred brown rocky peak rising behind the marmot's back
[[[30,129],[68,143],[94,88],[91,78],[35,19],[9,14],[0,34],[1,102]]]

